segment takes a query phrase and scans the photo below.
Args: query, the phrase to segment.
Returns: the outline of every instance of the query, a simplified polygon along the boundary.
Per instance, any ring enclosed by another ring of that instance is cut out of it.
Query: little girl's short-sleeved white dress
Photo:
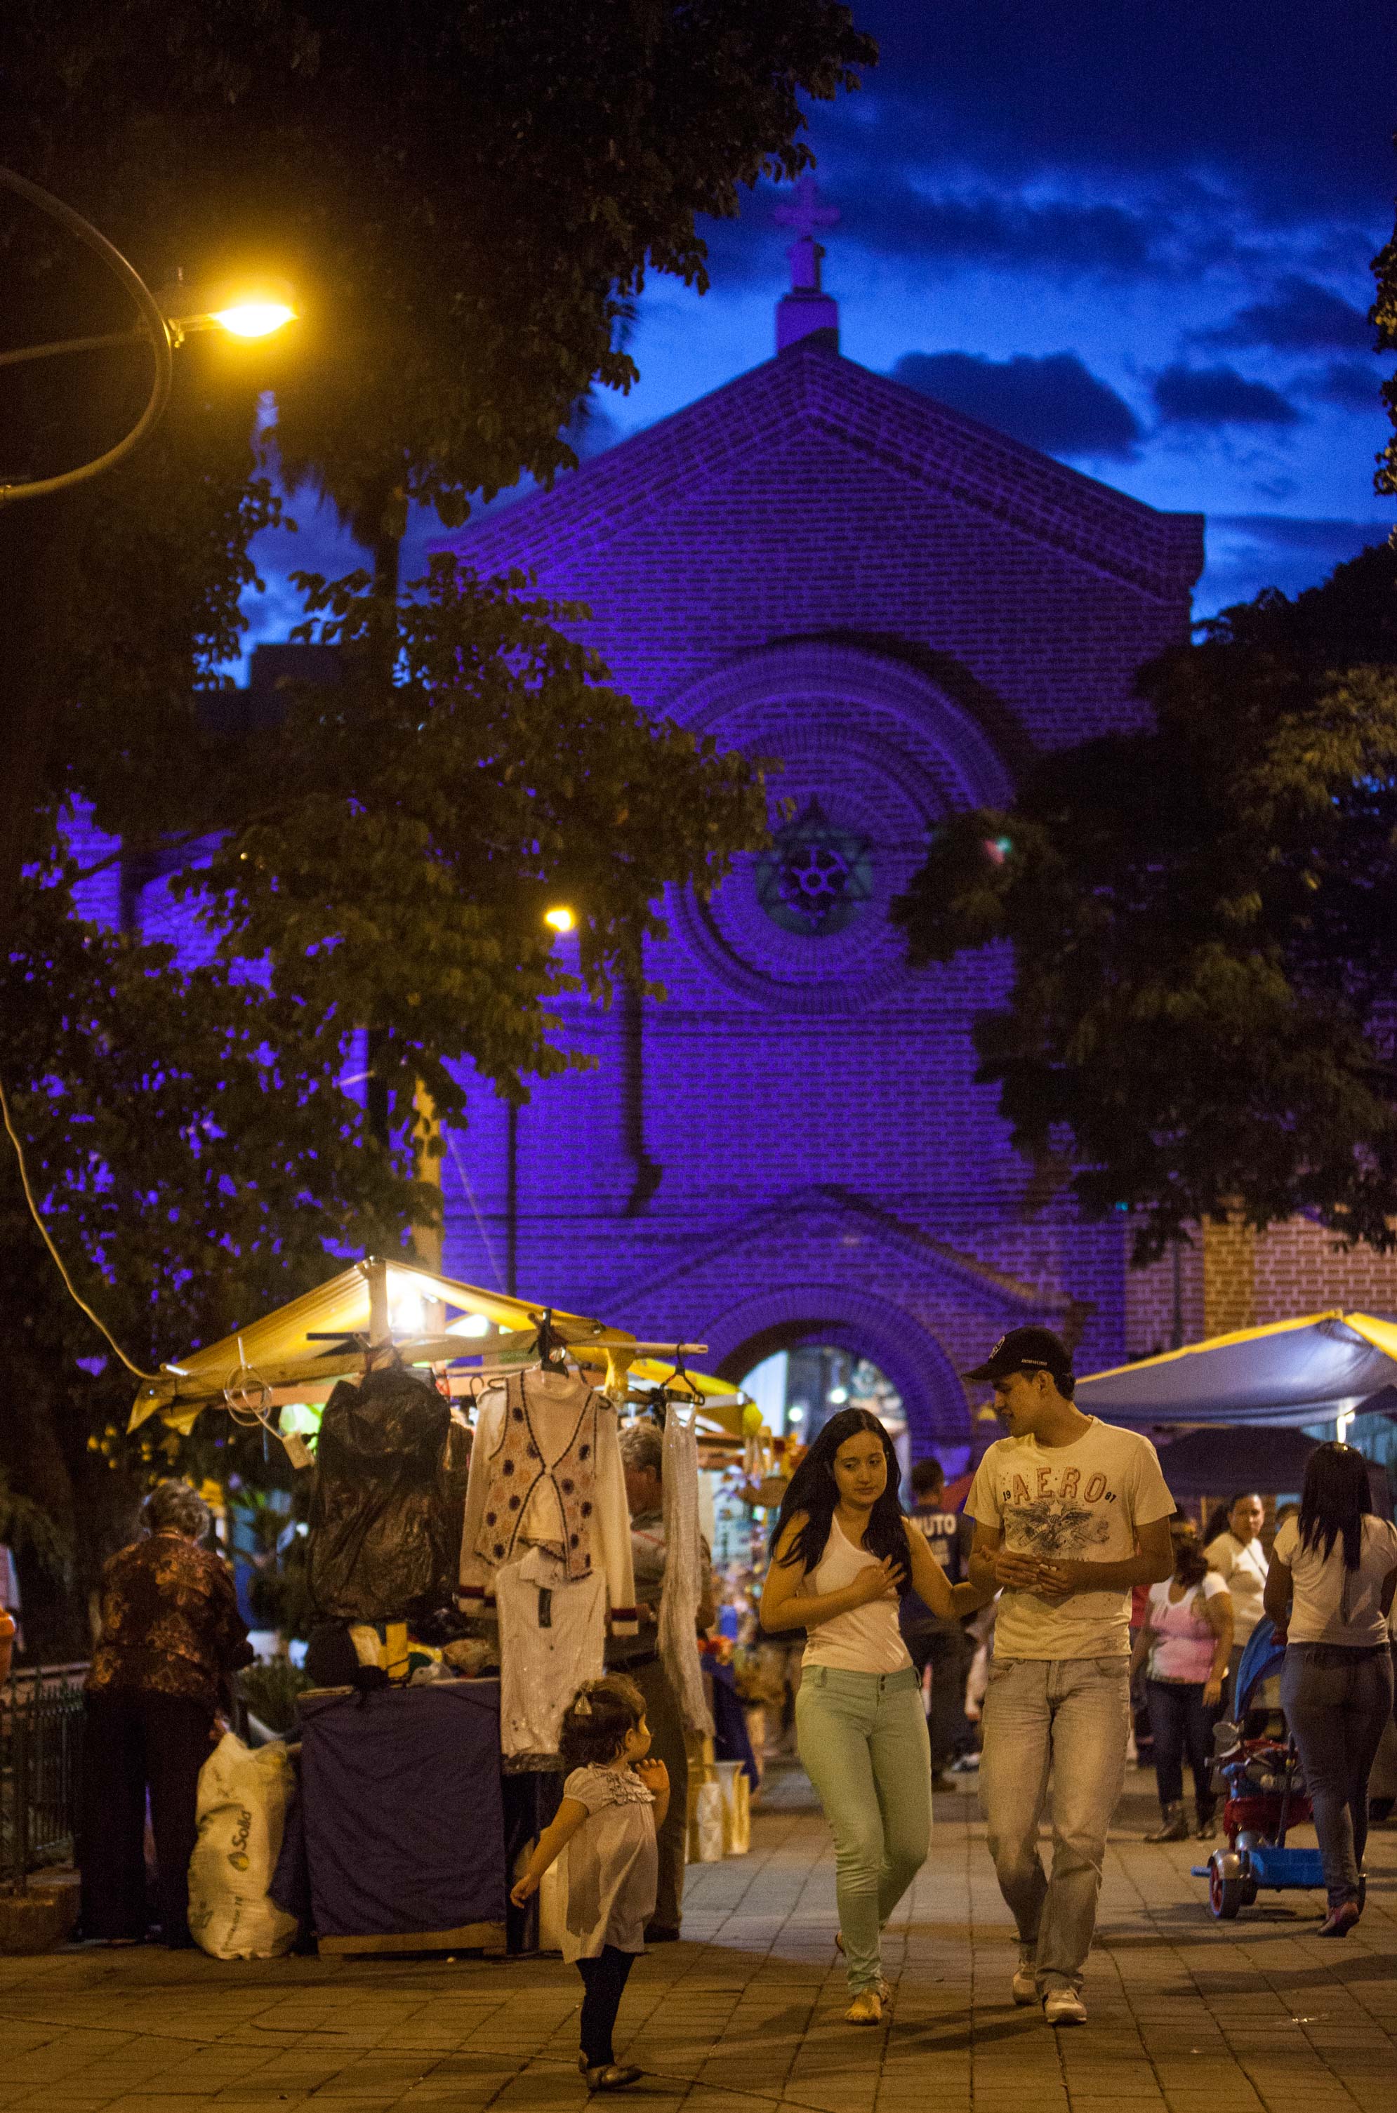
[[[569,1965],[596,1959],[604,1944],[642,1952],[659,1885],[655,1798],[632,1769],[573,1769],[562,1796],[588,1807],[562,1853],[569,1895],[562,1957]]]

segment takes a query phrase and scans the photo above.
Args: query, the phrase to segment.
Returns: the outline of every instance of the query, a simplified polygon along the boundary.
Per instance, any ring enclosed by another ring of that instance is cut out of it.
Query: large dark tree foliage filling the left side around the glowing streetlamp
[[[397,1245],[431,1209],[414,1082],[452,1114],[467,1061],[511,1095],[566,1065],[552,1002],[638,974],[664,887],[714,885],[761,835],[755,767],[647,721],[569,613],[450,566],[399,606],[395,547],[414,501],[454,524],[573,465],[579,399],[634,378],[645,275],[704,285],[695,216],[799,173],[801,97],[852,87],[873,46],[831,0],[15,0],[0,44],[2,163],[148,283],[271,270],[302,317],[260,347],[190,338],[146,448],[0,509],[0,1076],[80,1289],[150,1363],[304,1289],[328,1249]],[[11,199],[0,273],[6,342],[129,323]],[[142,357],[8,370],[0,473],[106,446]],[[239,744],[199,693],[237,651],[277,471],[334,499],[374,575],[306,583],[342,680]],[[129,852],[199,849],[205,968],[76,917],[66,801]],[[566,959],[539,925],[558,896]],[[355,1027],[387,1143],[338,1088]],[[8,1160],[0,1308],[15,1488],[66,1530],[97,1477],[129,1517],[159,1462],[114,1447],[127,1376],[76,1363],[99,1344]],[[78,1534],[80,1568],[106,1532]]]

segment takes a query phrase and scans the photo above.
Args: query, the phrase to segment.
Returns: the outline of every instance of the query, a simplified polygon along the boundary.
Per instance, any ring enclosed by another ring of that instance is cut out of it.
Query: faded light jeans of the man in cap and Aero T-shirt
[[[1000,1891],[1019,1925],[1023,1957],[1036,1965],[1040,1995],[1082,1986],[1129,1728],[1124,1652],[995,1659],[989,1667],[981,1807]],[[1050,1878],[1038,1855],[1038,1821],[1048,1800]]]

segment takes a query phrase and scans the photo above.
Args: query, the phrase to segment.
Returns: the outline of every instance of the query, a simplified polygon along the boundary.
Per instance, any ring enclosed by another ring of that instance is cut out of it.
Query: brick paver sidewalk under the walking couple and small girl
[[[1091,2024],[1055,2033],[1008,1999],[1014,1946],[974,1796],[936,1798],[932,1859],[890,1931],[894,2020],[860,2031],[843,2024],[824,1826],[801,1777],[774,1788],[752,1855],[691,1870],[687,1942],[632,1976],[617,2052],[649,2071],[626,2094],[636,2113],[1397,2107],[1397,1832],[1370,1845],[1367,1914],[1342,1944],[1312,1936],[1310,1893],[1215,1925],[1188,1876],[1200,1851],[1145,1847],[1154,1800],[1133,1783]],[[581,2113],[577,1995],[556,1959],[0,1959],[0,2107]]]

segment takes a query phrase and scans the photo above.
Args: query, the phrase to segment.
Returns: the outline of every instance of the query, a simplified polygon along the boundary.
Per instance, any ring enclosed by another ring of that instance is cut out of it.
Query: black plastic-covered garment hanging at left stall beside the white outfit
[[[450,1426],[435,1386],[397,1367],[334,1388],[306,1536],[319,1619],[412,1621],[450,1600],[461,1540]]]

